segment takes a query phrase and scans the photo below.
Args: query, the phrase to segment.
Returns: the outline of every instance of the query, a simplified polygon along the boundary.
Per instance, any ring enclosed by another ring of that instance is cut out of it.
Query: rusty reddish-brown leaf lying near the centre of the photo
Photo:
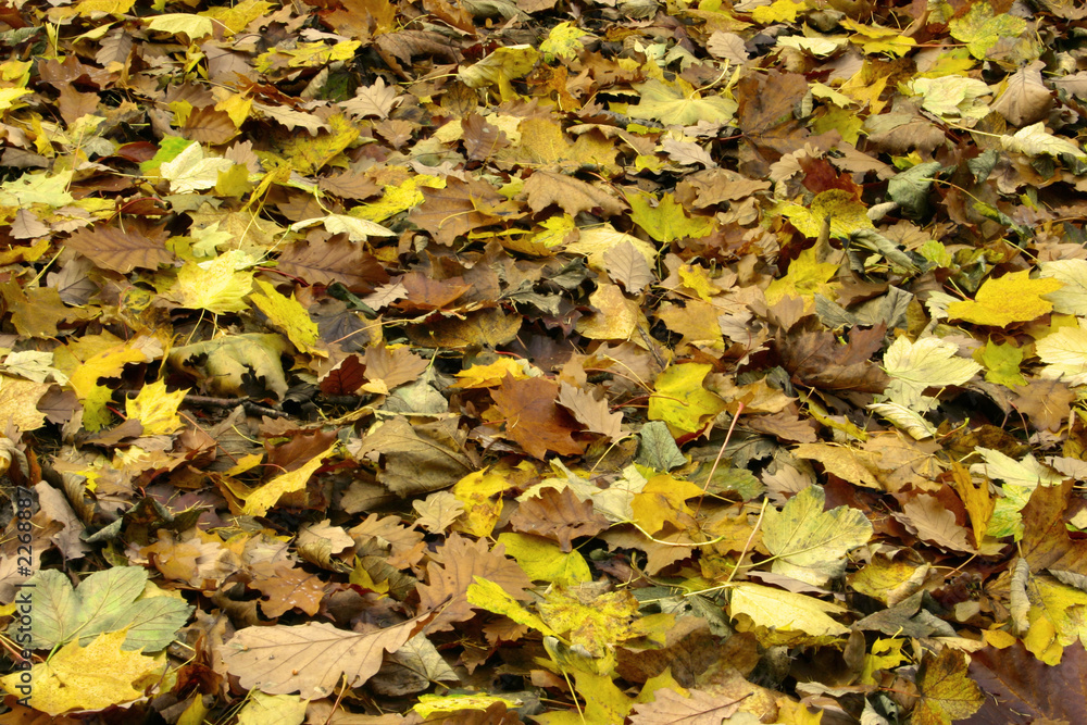
[[[502,386],[491,391],[495,404],[505,418],[505,435],[521,443],[525,452],[544,459],[548,451],[576,455],[585,449],[571,438],[573,426],[555,404],[559,385],[542,377],[523,380],[507,374]]]

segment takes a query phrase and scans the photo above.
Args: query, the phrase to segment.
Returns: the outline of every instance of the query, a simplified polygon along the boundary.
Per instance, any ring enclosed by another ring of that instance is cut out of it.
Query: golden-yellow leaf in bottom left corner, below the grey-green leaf
[[[120,629],[99,635],[87,647],[68,642],[47,662],[34,665],[28,692],[20,689],[21,673],[0,678],[0,684],[16,697],[28,693],[30,707],[50,715],[132,702],[143,697],[145,683],[140,680],[152,682],[165,661],[122,650],[127,634],[127,629]]]

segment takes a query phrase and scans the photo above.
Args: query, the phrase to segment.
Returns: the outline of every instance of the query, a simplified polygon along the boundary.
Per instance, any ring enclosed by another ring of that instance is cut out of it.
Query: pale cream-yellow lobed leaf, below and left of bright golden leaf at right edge
[[[937,337],[910,342],[902,336],[884,353],[883,367],[891,377],[886,395],[894,402],[921,412],[927,410],[926,388],[962,385],[982,371],[973,360],[958,357],[959,346]]]

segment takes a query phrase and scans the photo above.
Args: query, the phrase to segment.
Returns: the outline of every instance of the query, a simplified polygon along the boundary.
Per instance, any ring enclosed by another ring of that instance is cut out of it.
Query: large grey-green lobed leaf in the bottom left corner
[[[145,597],[147,571],[114,566],[96,572],[75,589],[57,570],[26,582],[30,593],[30,649],[49,650],[68,641],[87,645],[98,635],[128,627],[122,649],[158,651],[174,638],[192,608],[174,597]],[[32,588],[33,585],[33,588]],[[15,637],[20,621],[9,627]]]

